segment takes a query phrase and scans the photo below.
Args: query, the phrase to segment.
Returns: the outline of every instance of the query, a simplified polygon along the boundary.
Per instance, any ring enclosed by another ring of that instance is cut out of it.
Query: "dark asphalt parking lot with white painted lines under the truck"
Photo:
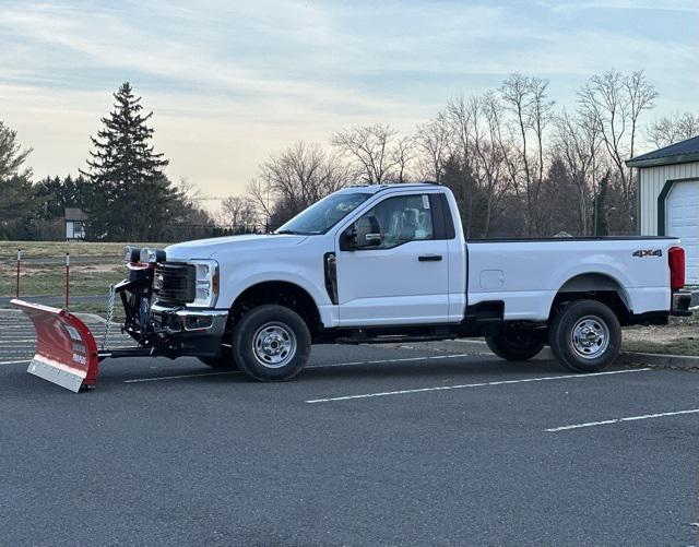
[[[318,346],[288,383],[142,358],[73,394],[32,340],[0,312],[1,545],[699,544],[697,372]]]

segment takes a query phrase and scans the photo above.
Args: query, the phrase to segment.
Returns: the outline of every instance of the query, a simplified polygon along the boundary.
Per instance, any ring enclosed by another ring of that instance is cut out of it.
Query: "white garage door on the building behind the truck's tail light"
[[[687,284],[699,285],[699,181],[675,182],[665,203],[665,234],[682,239]]]

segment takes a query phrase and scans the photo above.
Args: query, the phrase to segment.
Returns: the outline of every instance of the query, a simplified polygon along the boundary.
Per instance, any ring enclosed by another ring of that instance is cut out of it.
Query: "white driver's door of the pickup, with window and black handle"
[[[439,195],[431,197],[387,197],[365,213],[355,225],[378,228],[380,238],[374,241],[378,245],[350,250],[340,234],[336,272],[341,326],[448,321],[449,249],[443,235],[440,239],[441,222],[438,224],[433,216],[431,204]]]

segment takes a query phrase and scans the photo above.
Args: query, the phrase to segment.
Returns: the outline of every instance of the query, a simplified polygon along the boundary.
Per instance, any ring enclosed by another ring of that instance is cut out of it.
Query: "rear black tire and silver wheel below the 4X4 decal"
[[[554,317],[549,343],[567,369],[599,372],[619,355],[621,326],[608,306],[596,300],[576,300]]]

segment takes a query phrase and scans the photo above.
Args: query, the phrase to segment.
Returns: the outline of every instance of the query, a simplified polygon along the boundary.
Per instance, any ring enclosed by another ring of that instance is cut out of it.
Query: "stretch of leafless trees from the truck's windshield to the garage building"
[[[273,229],[348,181],[428,180],[454,192],[470,238],[633,234],[636,177],[626,159],[639,141],[662,147],[699,134],[689,112],[643,126],[656,98],[642,71],[608,70],[568,110],[547,80],[512,74],[450,99],[410,135],[376,123],[340,130],[329,146],[295,143],[260,166],[245,197],[223,203],[223,218]]]

